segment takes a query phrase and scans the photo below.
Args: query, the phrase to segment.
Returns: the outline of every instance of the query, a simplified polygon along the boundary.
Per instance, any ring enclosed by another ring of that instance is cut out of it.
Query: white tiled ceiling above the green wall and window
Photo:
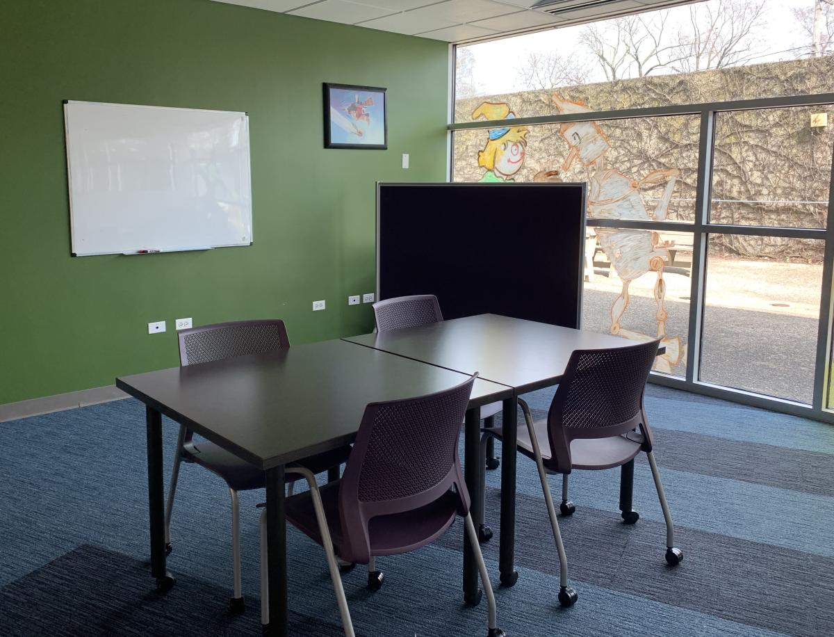
[[[214,0],[451,43],[639,13],[700,0]]]

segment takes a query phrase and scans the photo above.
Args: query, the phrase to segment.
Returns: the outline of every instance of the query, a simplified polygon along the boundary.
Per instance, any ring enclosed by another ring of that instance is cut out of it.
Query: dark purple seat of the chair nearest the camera
[[[353,562],[353,556],[344,554],[342,550],[344,536],[339,516],[340,485],[341,480],[334,480],[319,487],[319,493],[335,553],[340,558]],[[457,504],[457,495],[448,491],[442,498],[425,507],[371,518],[368,524],[370,554],[376,556],[407,553],[433,542],[455,521]],[[309,491],[287,498],[286,512],[290,523],[315,542],[321,543],[319,524],[316,522],[313,498]]]

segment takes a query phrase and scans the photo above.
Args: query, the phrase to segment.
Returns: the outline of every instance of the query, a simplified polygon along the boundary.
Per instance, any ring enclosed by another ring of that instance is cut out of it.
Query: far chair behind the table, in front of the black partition
[[[440,323],[443,314],[440,303],[433,294],[418,294],[414,296],[397,296],[374,303],[374,319],[379,332],[403,330],[408,327],[419,327],[429,323]],[[495,414],[501,412],[501,403],[492,402],[480,408],[480,419],[484,421],[484,429],[495,427]],[[485,456],[485,466],[497,469],[498,458],[495,458],[494,438],[484,435],[481,440],[482,455]],[[479,472],[481,480],[485,480],[483,472]],[[481,490],[483,493],[483,490]],[[480,508],[483,512],[483,507]],[[492,538],[492,530],[485,526],[483,514],[475,520],[478,527],[478,538],[487,542]]]

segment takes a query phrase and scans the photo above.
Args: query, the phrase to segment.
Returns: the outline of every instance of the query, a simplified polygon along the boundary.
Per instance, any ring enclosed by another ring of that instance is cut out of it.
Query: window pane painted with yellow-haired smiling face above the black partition
[[[586,181],[589,219],[692,221],[698,135],[691,115],[459,130],[453,179]]]

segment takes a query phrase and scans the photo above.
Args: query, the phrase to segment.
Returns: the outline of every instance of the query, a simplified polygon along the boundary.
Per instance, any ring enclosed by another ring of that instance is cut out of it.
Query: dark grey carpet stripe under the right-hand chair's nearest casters
[[[516,503],[516,564],[558,575],[544,500],[519,493]],[[488,489],[486,505],[495,537],[483,549],[486,558],[497,560],[500,492]],[[820,626],[834,629],[834,559],[681,527],[676,545],[684,561],[670,568],[664,559],[665,524],[641,518],[628,525],[617,513],[582,503],[570,518],[560,517],[560,530],[571,580],[784,634],[815,637],[824,634]],[[460,533],[447,533],[438,542],[460,549]],[[550,599],[555,606],[557,594],[557,589],[545,594],[545,603]]]

